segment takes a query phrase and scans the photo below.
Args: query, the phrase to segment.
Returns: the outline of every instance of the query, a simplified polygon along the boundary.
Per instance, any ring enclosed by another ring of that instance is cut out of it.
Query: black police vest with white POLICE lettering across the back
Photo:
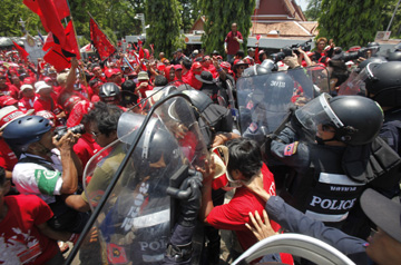
[[[313,219],[342,222],[356,204],[364,184],[349,178],[342,169],[344,147],[309,147],[310,168],[295,177],[295,207]]]

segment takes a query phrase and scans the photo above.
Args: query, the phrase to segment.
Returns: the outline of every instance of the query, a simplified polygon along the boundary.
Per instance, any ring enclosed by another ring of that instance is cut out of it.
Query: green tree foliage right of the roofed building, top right
[[[365,46],[383,30],[382,11],[388,0],[322,0],[319,37],[348,48]]]

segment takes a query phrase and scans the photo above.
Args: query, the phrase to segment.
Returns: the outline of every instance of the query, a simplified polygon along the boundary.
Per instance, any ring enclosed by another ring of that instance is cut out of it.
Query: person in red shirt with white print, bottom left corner
[[[56,232],[47,225],[53,216],[36,195],[6,196],[10,181],[0,168],[0,264],[62,264],[56,239],[75,241],[76,234]]]

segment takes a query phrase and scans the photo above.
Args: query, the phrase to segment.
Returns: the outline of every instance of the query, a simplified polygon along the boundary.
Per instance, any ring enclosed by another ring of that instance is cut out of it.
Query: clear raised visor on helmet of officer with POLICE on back
[[[295,117],[306,130],[315,132],[319,125],[343,127],[342,121],[330,107],[330,95],[322,94],[295,111]]]

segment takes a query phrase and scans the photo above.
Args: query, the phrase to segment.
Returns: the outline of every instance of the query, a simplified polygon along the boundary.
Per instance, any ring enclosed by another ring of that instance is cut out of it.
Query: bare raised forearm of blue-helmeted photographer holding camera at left
[[[74,153],[72,147],[77,143],[79,135],[74,135],[71,131],[68,131],[59,141],[56,137],[57,136],[55,136],[52,140],[55,146],[60,150],[62,166],[62,185],[60,193],[74,194],[78,188],[78,169],[74,159],[74,156],[77,155]]]

